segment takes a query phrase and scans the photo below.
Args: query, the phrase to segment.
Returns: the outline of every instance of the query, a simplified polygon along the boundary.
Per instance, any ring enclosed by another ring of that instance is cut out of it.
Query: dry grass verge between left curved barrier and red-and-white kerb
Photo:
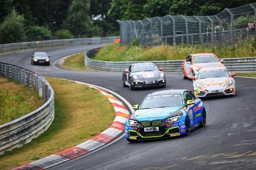
[[[61,79],[47,80],[55,90],[52,125],[27,145],[0,156],[0,169],[27,164],[76,146],[112,124],[114,109],[97,90]]]

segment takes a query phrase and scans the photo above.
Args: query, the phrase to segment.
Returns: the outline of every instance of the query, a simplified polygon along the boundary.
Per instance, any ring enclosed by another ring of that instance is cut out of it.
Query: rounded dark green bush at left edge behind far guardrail
[[[2,44],[11,42],[22,42],[25,36],[25,19],[15,10],[11,11],[0,27],[0,42]]]

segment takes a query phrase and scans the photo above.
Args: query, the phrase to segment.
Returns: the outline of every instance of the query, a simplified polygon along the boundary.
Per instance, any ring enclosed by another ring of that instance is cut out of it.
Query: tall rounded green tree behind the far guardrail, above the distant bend
[[[89,15],[90,1],[73,0],[68,9],[67,27],[73,35],[92,36],[92,20]]]

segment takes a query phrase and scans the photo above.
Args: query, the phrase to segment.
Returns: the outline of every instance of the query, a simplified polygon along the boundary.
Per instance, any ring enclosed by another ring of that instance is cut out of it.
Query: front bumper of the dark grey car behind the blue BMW
[[[156,79],[156,80],[133,80],[131,86],[135,88],[144,88],[144,87],[162,87],[166,86],[166,79]]]

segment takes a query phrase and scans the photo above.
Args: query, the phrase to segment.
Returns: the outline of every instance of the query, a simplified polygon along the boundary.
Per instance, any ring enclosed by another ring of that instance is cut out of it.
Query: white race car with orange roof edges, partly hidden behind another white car
[[[221,63],[224,60],[218,59],[213,53],[189,54],[183,62],[183,78],[191,78],[199,73],[200,69],[209,67],[226,67]]]

